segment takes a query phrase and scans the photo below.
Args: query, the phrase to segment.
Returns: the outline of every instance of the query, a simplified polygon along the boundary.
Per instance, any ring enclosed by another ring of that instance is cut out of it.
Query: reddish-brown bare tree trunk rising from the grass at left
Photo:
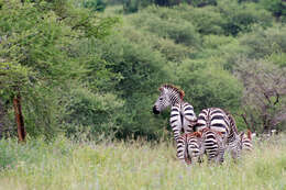
[[[21,109],[21,96],[20,93],[13,99],[14,114],[15,114],[15,123],[18,127],[18,137],[19,142],[25,141],[25,127],[24,127],[24,118],[22,115]]]

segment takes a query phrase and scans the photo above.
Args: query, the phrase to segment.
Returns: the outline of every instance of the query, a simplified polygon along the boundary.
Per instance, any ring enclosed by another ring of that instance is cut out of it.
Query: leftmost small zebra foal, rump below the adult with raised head
[[[183,153],[184,159],[180,159],[187,165],[190,165],[191,163],[201,163],[201,155],[204,153],[201,133],[194,132],[180,135],[177,143],[177,152]]]

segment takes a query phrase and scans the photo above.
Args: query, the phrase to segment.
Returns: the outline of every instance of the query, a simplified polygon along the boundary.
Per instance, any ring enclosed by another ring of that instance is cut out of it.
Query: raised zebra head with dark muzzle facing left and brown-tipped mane
[[[183,100],[184,91],[179,90],[175,86],[164,85],[160,88],[160,97],[153,107],[153,113],[160,114],[163,110],[169,105],[174,105]]]

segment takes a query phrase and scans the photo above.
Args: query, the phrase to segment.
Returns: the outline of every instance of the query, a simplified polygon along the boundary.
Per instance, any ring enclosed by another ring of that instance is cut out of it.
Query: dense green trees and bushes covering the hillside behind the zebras
[[[286,130],[284,0],[0,0],[0,135],[169,136],[157,88]]]

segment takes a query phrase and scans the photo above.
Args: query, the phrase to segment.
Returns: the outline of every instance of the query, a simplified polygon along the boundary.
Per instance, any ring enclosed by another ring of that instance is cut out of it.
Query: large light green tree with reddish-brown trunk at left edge
[[[62,120],[62,91],[86,71],[75,44],[105,37],[117,22],[70,1],[22,2],[0,7],[0,93],[13,104],[20,141],[25,128],[32,136],[54,135]]]

